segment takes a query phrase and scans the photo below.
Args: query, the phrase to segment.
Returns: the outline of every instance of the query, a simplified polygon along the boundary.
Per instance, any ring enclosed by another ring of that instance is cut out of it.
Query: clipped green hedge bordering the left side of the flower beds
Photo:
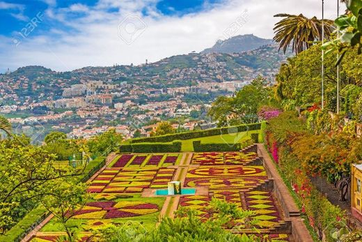
[[[101,167],[106,164],[105,157],[97,157],[87,165],[84,169],[84,175],[79,179],[81,182],[86,182],[88,179],[95,174]],[[42,220],[47,218],[47,209],[42,206],[37,206],[35,209],[29,211],[17,225],[12,227],[6,234],[0,235],[0,241],[21,241],[26,234],[29,234],[33,228],[38,226]]]

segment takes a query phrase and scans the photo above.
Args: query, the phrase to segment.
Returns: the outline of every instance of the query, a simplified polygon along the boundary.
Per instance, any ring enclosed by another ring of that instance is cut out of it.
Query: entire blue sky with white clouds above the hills
[[[336,18],[337,0],[324,3],[325,18]],[[138,65],[239,34],[273,38],[275,14],[320,18],[321,6],[322,0],[0,0],[0,73],[31,65]]]

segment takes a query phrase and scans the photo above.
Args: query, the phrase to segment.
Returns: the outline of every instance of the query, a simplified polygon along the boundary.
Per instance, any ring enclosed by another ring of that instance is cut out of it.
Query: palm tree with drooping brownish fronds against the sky
[[[318,20],[317,17],[308,19],[304,15],[289,15],[281,13],[274,17],[284,17],[275,24],[274,40],[279,43],[279,50],[285,53],[290,44],[292,52],[298,54],[313,45],[315,40],[322,40],[322,25],[324,24],[324,38],[331,36],[333,31],[332,20]],[[323,24],[322,24],[323,22]]]

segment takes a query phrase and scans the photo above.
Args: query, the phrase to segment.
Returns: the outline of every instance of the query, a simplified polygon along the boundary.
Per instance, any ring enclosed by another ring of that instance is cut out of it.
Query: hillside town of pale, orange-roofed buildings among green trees
[[[233,95],[258,76],[272,82],[285,58],[276,45],[266,45],[241,53],[190,53],[140,66],[66,73],[27,66],[0,75],[0,113],[19,133],[31,126],[39,139],[49,130],[92,137],[109,128],[125,139],[136,130],[148,136],[148,127],[162,120],[182,130],[213,127],[206,116],[212,101]]]

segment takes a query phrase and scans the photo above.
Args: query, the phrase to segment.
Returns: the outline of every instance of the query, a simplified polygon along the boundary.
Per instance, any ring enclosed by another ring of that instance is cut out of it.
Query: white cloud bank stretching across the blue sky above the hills
[[[175,54],[187,54],[194,50],[200,52],[214,45],[245,10],[249,16],[246,17],[247,22],[233,33],[234,36],[253,33],[262,38],[272,38],[274,24],[279,20],[273,17],[276,13],[303,13],[308,17],[321,17],[320,3],[315,0],[230,0],[217,8],[182,17],[161,15],[150,3],[155,3],[155,0],[101,0],[93,8],[77,5],[62,10],[48,9],[48,19],[45,17],[44,24],[57,20],[76,31],[58,31],[62,34],[55,35],[56,38],[51,34],[30,35],[17,47],[12,45],[12,39],[8,39],[7,50],[0,57],[1,70],[27,65],[72,70],[83,66],[111,66],[114,63],[139,64],[144,63],[145,59],[153,62]],[[109,7],[120,9],[108,13]],[[152,14],[142,17],[144,8]],[[74,11],[81,11],[85,16],[69,18],[70,12]],[[127,45],[118,36],[118,24],[129,13],[141,16],[147,28]],[[326,4],[325,17],[336,17],[336,3]],[[42,28],[42,25],[38,28]],[[51,32],[56,33],[57,30]]]

